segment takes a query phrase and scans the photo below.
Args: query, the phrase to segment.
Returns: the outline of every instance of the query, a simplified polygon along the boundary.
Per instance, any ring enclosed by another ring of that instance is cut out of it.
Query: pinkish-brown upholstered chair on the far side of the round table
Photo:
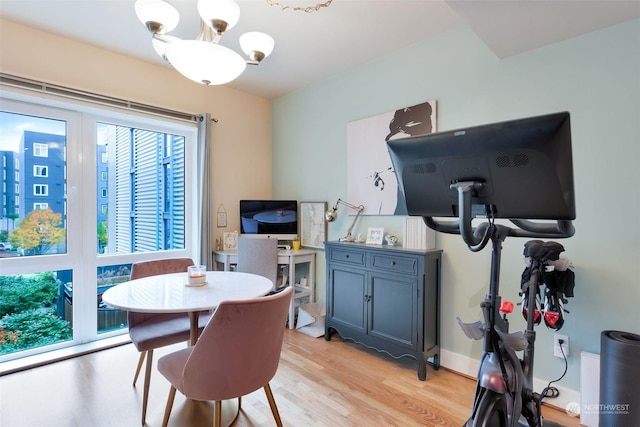
[[[191,258],[173,258],[154,261],[141,261],[131,266],[131,280],[143,277],[156,276],[166,273],[186,272],[187,267],[194,265]],[[204,328],[210,316],[201,315],[198,321],[200,328]],[[140,359],[136,373],[133,377],[133,385],[136,385],[142,364],[147,359],[144,377],[144,389],[142,394],[142,424],[145,423],[147,414],[147,402],[149,400],[149,384],[151,382],[151,367],[153,362],[153,350],[179,342],[189,341],[191,330],[189,315],[187,313],[139,313],[127,312],[129,323],[129,337],[131,342],[140,352]]]

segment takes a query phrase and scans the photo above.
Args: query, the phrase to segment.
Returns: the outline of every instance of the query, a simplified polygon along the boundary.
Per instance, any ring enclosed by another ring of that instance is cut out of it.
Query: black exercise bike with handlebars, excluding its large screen
[[[478,381],[471,416],[466,427],[515,427],[528,425],[541,427],[553,425],[543,422],[541,396],[533,391],[533,357],[535,331],[540,311],[536,307],[536,297],[540,292],[542,276],[551,261],[559,258],[564,251],[556,242],[532,240],[525,245],[525,255],[531,259],[529,280],[525,283],[524,301],[526,330],[509,333],[509,323],[504,309],[501,315],[502,299],[499,295],[500,258],[502,242],[508,237],[566,238],[575,230],[571,221],[558,220],[555,223],[537,223],[529,220],[509,220],[513,226],[496,224],[490,208],[485,212],[486,221],[472,226],[472,194],[481,188],[482,182],[466,181],[451,184],[458,192],[459,219],[436,221],[424,217],[430,228],[444,233],[460,234],[473,252],[482,250],[491,242],[491,270],[489,293],[480,304],[483,322],[458,323],[465,334],[473,339],[484,339],[484,355],[480,363]],[[522,359],[516,351],[523,351]]]

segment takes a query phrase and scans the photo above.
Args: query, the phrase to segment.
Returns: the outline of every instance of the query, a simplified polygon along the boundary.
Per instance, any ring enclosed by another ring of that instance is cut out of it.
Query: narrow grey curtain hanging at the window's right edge
[[[213,270],[213,216],[211,214],[211,115],[201,114],[198,125],[198,197],[200,198],[200,264]]]

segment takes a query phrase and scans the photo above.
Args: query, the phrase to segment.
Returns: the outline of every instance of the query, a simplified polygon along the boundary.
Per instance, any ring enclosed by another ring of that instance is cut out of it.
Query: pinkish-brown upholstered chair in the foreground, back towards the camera
[[[222,302],[195,346],[158,359],[171,383],[163,426],[169,422],[176,390],[188,399],[215,401],[214,426],[220,426],[222,400],[263,388],[278,426],[282,426],[269,381],[280,362],[292,287],[273,295]]]

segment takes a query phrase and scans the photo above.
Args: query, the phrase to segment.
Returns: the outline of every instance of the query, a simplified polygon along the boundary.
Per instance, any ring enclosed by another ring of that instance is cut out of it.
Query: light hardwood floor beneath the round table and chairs
[[[155,360],[182,345],[157,350]],[[139,426],[142,382],[131,384],[138,352],[131,345],[0,377],[1,427]],[[393,359],[337,334],[327,342],[286,330],[280,367],[271,382],[285,426],[461,426],[474,381],[446,369]],[[148,426],[160,426],[169,383],[151,378]],[[178,393],[170,426],[210,426],[212,406]],[[548,420],[579,419],[545,405]],[[262,390],[245,396],[234,426],[275,425]]]

